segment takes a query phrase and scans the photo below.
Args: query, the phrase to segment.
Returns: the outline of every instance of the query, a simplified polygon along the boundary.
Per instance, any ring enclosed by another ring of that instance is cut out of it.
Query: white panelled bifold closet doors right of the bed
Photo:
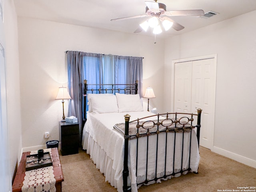
[[[202,109],[200,145],[211,149],[214,133],[214,58],[174,64],[174,112],[194,113]],[[197,116],[194,116],[196,125]]]

